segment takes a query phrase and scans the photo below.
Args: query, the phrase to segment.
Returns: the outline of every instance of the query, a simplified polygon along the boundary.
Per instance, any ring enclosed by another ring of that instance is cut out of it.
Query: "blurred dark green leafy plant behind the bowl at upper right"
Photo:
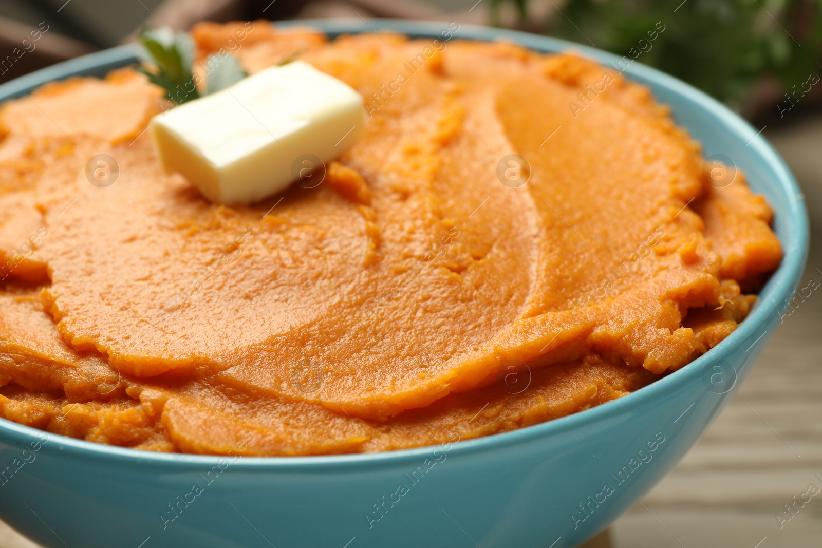
[[[518,26],[626,55],[662,21],[666,30],[638,60],[737,110],[768,78],[781,81],[781,95],[822,74],[822,0],[547,0],[545,20],[531,21],[538,1],[492,0],[492,22],[508,8]]]

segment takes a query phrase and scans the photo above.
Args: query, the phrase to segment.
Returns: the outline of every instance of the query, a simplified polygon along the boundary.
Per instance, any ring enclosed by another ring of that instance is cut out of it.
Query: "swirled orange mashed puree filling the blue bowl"
[[[197,59],[241,29],[247,71],[297,54],[366,99],[321,184],[211,204],[159,167],[143,130],[169,104],[130,69],[0,108],[0,417],[202,454],[510,431],[686,366],[781,260],[744,175],[713,185],[610,69],[261,21],[197,25]],[[90,184],[95,154],[113,185]],[[524,185],[498,177],[507,154]]]

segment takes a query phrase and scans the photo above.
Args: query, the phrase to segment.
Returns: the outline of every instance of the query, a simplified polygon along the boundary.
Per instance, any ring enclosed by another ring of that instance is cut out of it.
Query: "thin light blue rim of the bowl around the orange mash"
[[[399,32],[414,38],[432,39],[436,37],[441,30],[446,30],[446,23],[441,21],[363,18],[276,21],[275,25],[278,28],[298,26],[313,27],[330,36],[363,34],[387,30]],[[616,54],[607,53],[583,44],[575,44],[562,39],[481,25],[460,23],[458,39],[477,39],[482,41],[506,39],[515,44],[520,44],[526,48],[540,52],[560,52],[570,49],[576,53],[580,53],[586,58],[591,58],[596,62],[611,66],[614,66],[621,60],[621,57]],[[30,90],[48,81],[62,80],[67,77],[79,76],[100,70],[111,70],[114,67],[122,67],[128,62],[134,62],[135,58],[136,47],[133,44],[128,44],[61,62],[0,85],[0,102],[28,93]],[[762,330],[764,325],[768,324],[769,315],[774,313],[777,315],[780,314],[780,305],[777,304],[775,299],[779,298],[782,300],[783,297],[789,296],[797,288],[807,260],[810,238],[809,222],[804,196],[790,169],[787,168],[786,163],[778,155],[776,150],[774,150],[774,147],[761,135],[761,131],[757,131],[736,113],[733,113],[716,99],[695,89],[693,86],[641,63],[630,63],[630,66],[627,67],[624,72],[631,78],[638,79],[646,84],[666,88],[667,90],[671,90],[672,93],[679,94],[685,99],[690,100],[690,102],[694,104],[699,104],[701,108],[716,118],[720,123],[727,125],[737,136],[740,138],[750,138],[746,146],[750,146],[753,154],[760,155],[769,168],[773,170],[777,182],[775,187],[787,197],[788,211],[785,215],[786,226],[788,232],[791,233],[794,239],[790,240],[783,234],[783,237],[787,242],[791,243],[791,246],[783,245],[783,260],[764,288],[763,293],[770,298],[760,298],[746,320],[743,321],[732,334],[728,335],[721,343],[712,348],[710,352],[706,352],[703,356],[698,357],[680,370],[674,371],[662,379],[654,381],[651,385],[645,386],[617,400],[603,403],[595,408],[576,412],[566,417],[560,417],[553,421],[546,421],[515,431],[487,435],[472,440],[457,441],[449,449],[452,455],[477,454],[499,449],[510,449],[510,447],[515,445],[527,444],[538,438],[561,435],[566,431],[570,432],[572,428],[583,428],[594,422],[607,420],[617,413],[629,412],[632,408],[640,408],[642,405],[653,400],[665,398],[671,391],[693,381],[710,362],[727,359],[732,352],[739,350],[742,343],[757,334]],[[781,231],[779,232],[781,233]],[[762,330],[759,338],[767,334],[769,330],[772,331],[773,329]],[[757,338],[757,341],[759,338]],[[132,465],[153,464],[164,467],[187,468],[192,465],[215,465],[220,459],[226,458],[224,456],[200,454],[155,453],[113,445],[96,444],[94,442],[77,440],[75,438],[41,431],[30,426],[22,426],[16,422],[7,420],[0,420],[0,435],[6,440],[14,440],[18,444],[45,439],[48,440],[49,445],[53,444],[58,446],[61,454],[66,456],[94,457],[108,463]],[[0,440],[2,440],[2,438],[0,438]],[[372,469],[375,466],[393,467],[418,461],[420,458],[426,458],[431,454],[432,450],[440,446],[440,444],[435,444],[413,449],[397,449],[369,454],[243,457],[236,459],[236,462],[232,463],[232,467],[267,471],[276,471],[278,469],[293,470],[294,467],[305,469],[306,471],[328,471],[331,468],[339,467],[349,470]]]

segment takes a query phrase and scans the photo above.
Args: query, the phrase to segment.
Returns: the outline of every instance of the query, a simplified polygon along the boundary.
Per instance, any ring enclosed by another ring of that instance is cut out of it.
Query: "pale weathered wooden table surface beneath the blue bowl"
[[[822,229],[822,117],[764,131]],[[800,287],[822,282],[811,249]],[[822,289],[785,318],[731,403],[681,463],[586,548],[822,546],[822,493],[781,523],[810,483],[822,489]],[[0,522],[0,548],[36,548]]]

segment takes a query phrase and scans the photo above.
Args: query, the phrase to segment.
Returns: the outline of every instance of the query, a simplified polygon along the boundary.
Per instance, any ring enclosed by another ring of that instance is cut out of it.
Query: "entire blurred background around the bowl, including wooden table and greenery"
[[[0,0],[0,52],[10,53],[0,83],[129,42],[144,25],[314,17],[496,25],[638,57],[761,129],[820,233],[822,0]],[[649,43],[658,22],[664,31]],[[23,51],[32,30],[41,39]],[[822,282],[819,246],[800,287],[810,280]],[[789,521],[776,517],[810,484],[822,489],[822,297],[811,293],[783,320],[702,440],[588,548],[822,546],[822,493],[792,506]],[[0,522],[0,548],[33,546]]]

